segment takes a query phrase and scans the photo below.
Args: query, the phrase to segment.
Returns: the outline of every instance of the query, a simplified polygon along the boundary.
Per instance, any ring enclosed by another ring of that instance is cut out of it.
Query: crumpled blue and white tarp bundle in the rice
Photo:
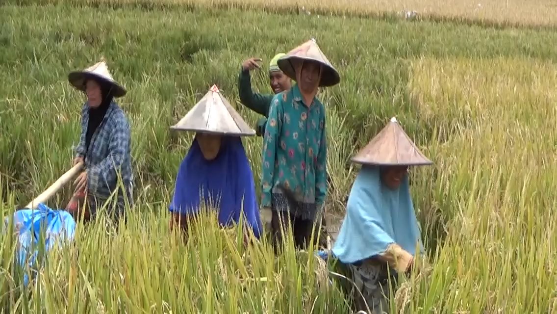
[[[6,217],[4,223],[9,223]],[[76,223],[72,215],[65,210],[53,210],[45,204],[39,204],[38,209],[22,209],[13,213],[13,224],[16,228],[18,238],[18,248],[16,260],[19,266],[25,268],[35,263],[38,255],[38,244],[41,239],[41,231],[44,232],[42,238],[45,241],[45,253],[55,244],[63,245],[74,240]],[[31,252],[32,249],[35,252]],[[29,278],[27,274],[23,276],[23,284],[27,286]]]

